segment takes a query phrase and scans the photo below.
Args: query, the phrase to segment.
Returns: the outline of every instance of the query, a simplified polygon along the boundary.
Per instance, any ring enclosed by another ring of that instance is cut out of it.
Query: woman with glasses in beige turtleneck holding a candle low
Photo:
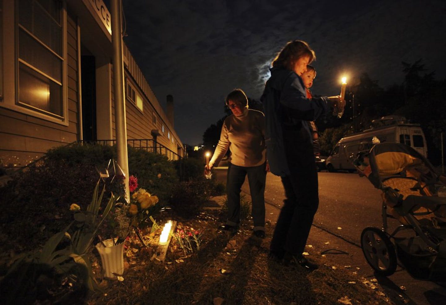
[[[248,175],[254,234],[264,238],[264,191],[267,171],[264,114],[248,109],[248,98],[241,89],[235,89],[228,94],[225,102],[232,114],[223,122],[219,143],[211,161],[205,166],[204,174],[209,175],[214,165],[220,163],[227,150],[231,151],[226,183],[228,215],[223,230],[231,234],[235,234],[238,230],[240,191]]]

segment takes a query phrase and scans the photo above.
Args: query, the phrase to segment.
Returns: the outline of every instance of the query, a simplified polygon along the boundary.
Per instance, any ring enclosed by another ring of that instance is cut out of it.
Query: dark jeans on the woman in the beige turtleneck
[[[252,199],[252,220],[254,230],[265,230],[265,164],[254,167],[241,167],[229,163],[227,168],[227,224],[240,224],[240,191],[248,175]]]

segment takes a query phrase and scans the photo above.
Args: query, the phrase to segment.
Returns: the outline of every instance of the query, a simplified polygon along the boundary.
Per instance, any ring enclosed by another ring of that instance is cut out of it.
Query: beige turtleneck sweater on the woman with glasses
[[[243,167],[265,162],[265,116],[262,112],[244,108],[243,114],[231,114],[224,122],[220,140],[209,165],[218,166],[227,150],[231,164]]]

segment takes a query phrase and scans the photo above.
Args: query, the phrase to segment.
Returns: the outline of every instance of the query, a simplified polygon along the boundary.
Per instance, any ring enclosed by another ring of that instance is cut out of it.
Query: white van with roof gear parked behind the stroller
[[[406,123],[403,117],[383,117],[374,120],[371,129],[356,134],[350,134],[339,140],[330,156],[326,160],[328,171],[355,171],[351,163],[359,151],[370,150],[373,146],[372,138],[380,142],[403,143],[412,146],[427,158],[426,139],[419,124]]]

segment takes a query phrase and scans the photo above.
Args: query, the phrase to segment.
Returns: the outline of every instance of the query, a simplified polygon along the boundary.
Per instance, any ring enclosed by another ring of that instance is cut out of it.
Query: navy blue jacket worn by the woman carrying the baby
[[[299,76],[285,68],[271,68],[271,77],[260,98],[265,114],[266,156],[274,175],[289,175],[285,158],[283,132],[297,130],[296,144],[312,146],[306,121],[314,121],[328,110],[328,98],[306,98]],[[289,143],[287,143],[289,144]]]

